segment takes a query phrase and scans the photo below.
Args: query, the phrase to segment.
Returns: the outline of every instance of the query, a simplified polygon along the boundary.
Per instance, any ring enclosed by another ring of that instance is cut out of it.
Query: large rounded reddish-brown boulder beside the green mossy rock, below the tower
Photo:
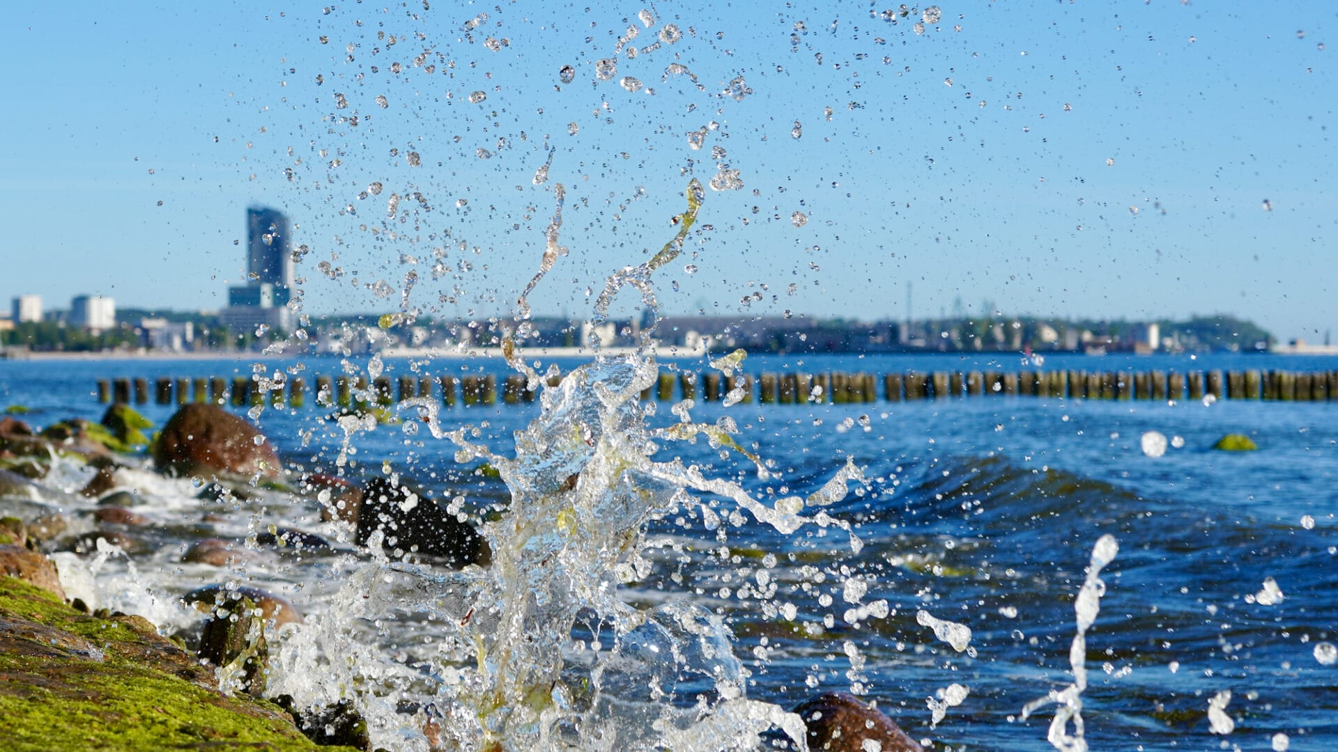
[[[280,472],[274,447],[254,426],[211,404],[182,405],[154,444],[154,464],[178,475]]]

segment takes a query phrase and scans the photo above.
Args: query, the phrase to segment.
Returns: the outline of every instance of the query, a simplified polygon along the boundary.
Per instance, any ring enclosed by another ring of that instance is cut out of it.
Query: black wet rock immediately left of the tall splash
[[[367,546],[381,531],[381,547],[391,558],[417,553],[446,559],[452,567],[487,566],[492,551],[487,539],[424,494],[373,478],[363,488],[357,518],[357,545]]]

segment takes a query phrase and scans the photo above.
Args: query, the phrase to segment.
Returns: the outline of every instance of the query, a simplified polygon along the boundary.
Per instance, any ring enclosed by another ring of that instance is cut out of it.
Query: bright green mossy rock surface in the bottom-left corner
[[[0,620],[5,749],[316,749],[270,702],[209,686],[211,672],[142,618],[82,614],[3,577]]]

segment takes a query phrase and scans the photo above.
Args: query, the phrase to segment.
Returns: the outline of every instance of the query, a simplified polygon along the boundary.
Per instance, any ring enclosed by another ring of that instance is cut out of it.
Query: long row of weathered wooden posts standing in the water
[[[555,385],[561,379],[550,380]],[[882,384],[879,384],[882,381]],[[230,401],[235,407],[288,404],[302,407],[308,397],[306,380],[290,377],[270,383],[237,376],[227,379],[157,379],[154,401]],[[393,391],[392,391],[393,387]],[[807,404],[871,403],[946,399],[975,395],[1020,395],[1058,399],[1103,400],[1200,400],[1216,399],[1327,401],[1338,400],[1338,371],[1301,373],[1291,371],[935,371],[931,373],[761,373],[723,376],[717,372],[662,371],[658,383],[642,392],[649,400],[702,399],[706,401]],[[138,404],[149,401],[147,379],[99,379],[98,399],[103,403]],[[506,376],[502,400],[507,404],[534,401],[523,376]],[[498,379],[479,376],[317,376],[314,399],[321,405],[392,404],[415,397],[439,397],[446,405],[496,404]]]

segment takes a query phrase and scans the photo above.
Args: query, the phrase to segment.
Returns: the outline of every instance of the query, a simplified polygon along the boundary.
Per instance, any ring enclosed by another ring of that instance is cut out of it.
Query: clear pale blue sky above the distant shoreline
[[[506,313],[562,182],[535,310],[586,314],[737,170],[665,310],[1338,331],[1331,1],[429,5],[5,5],[0,300],[217,309],[265,203],[309,312]]]

